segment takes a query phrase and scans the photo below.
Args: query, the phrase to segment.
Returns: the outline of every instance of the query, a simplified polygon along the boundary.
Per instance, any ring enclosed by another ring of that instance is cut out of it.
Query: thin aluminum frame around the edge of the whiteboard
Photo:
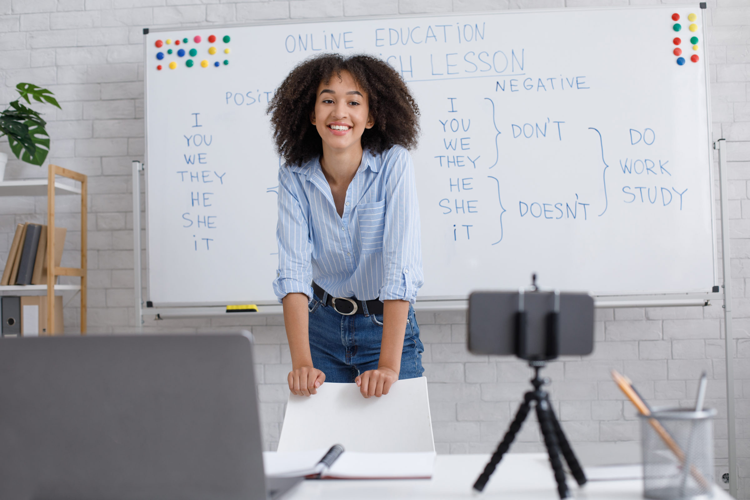
[[[245,28],[245,27],[251,27],[251,26],[263,26],[263,25],[288,25],[288,24],[311,24],[316,22],[349,22],[349,21],[361,21],[361,20],[375,20],[375,19],[394,19],[394,18],[419,18],[419,17],[447,17],[447,16],[455,16],[456,14],[465,15],[465,14],[475,14],[475,15],[511,15],[511,14],[524,14],[529,12],[570,12],[570,11],[594,11],[594,10],[628,10],[628,9],[661,9],[665,6],[662,4],[655,4],[655,5],[622,5],[622,6],[605,6],[605,7],[562,7],[562,8],[545,8],[545,9],[512,9],[512,10],[481,10],[481,11],[466,11],[466,12],[442,12],[442,13],[411,13],[411,14],[386,14],[382,16],[350,16],[350,17],[325,17],[325,18],[315,18],[315,19],[275,19],[275,20],[264,20],[264,21],[258,21],[258,22],[237,22],[237,23],[226,23],[226,24],[220,24],[220,25],[190,25],[190,26],[182,26],[182,25],[170,25],[170,26],[163,26],[159,28],[148,28],[148,34],[151,33],[158,33],[163,31],[174,31],[175,29],[185,29],[185,28],[194,28],[194,29],[205,29],[205,28]],[[694,3],[682,3],[682,4],[673,4],[670,5],[670,7],[673,8],[694,8]],[[700,8],[700,7],[699,7]],[[703,22],[703,40],[707,40],[706,35],[706,9],[700,9],[701,19]],[[146,33],[143,34],[144,37],[147,36]],[[143,43],[143,60],[146,60],[146,51],[148,50],[147,43]],[[708,63],[708,50],[705,51],[705,55],[703,56],[703,69],[705,74],[705,80],[706,80],[706,117],[707,117],[707,136],[708,136],[708,157],[707,157],[707,167],[709,169],[709,182],[711,185],[711,189],[713,192],[714,186],[715,186],[715,178],[714,178],[714,166],[713,166],[713,155],[712,155],[712,149],[713,149],[713,142],[712,142],[712,121],[711,121],[711,99],[710,99],[710,76],[709,76],[709,63]],[[147,71],[144,71],[143,75],[143,83],[144,83],[144,127],[145,127],[145,159],[148,160],[148,75]],[[148,168],[148,165],[145,165],[145,168]],[[145,238],[146,238],[146,251],[145,251],[145,268],[146,268],[146,297],[150,298],[150,264],[149,264],[149,258],[148,258],[148,174],[145,174]],[[133,191],[135,191],[135,180],[133,180]],[[718,283],[718,250],[716,247],[716,240],[717,240],[717,232],[716,232],[716,213],[715,213],[715,195],[713,196],[713,202],[710,204],[711,209],[711,228],[712,228],[712,253],[713,253],[713,267],[714,267],[714,284],[716,285]],[[135,214],[133,214],[135,216]],[[133,218],[133,221],[135,219]],[[542,278],[543,279],[543,278]],[[716,300],[716,297],[713,296],[712,290],[706,290],[706,292],[681,292],[679,290],[664,290],[662,292],[649,292],[649,293],[641,293],[641,292],[631,292],[631,293],[623,293],[623,294],[596,294],[596,292],[593,292],[592,295],[594,295],[595,301],[598,304],[604,304],[604,302],[610,303],[612,305],[601,305],[597,307],[646,307],[651,305],[651,307],[660,307],[661,305],[664,305],[665,307],[669,306],[677,306],[677,305],[705,305],[705,301],[709,300]],[[721,294],[723,295],[723,294]],[[468,301],[467,297],[463,296],[431,296],[428,298],[422,298],[421,300],[417,299],[418,303],[422,302],[422,304],[425,304],[427,302],[453,302],[455,303],[455,307],[458,307],[458,309],[463,309],[463,302]],[[700,303],[700,301],[703,301],[703,304]],[[275,306],[278,305],[278,301],[275,301],[273,299],[264,299],[264,300],[257,300],[257,301],[251,301],[250,299],[241,299],[239,301],[234,302],[234,304],[248,304],[248,302],[252,302],[253,304],[257,304],[259,306]],[[625,305],[627,304],[627,305]],[[220,306],[226,306],[226,305],[233,305],[233,304],[219,304],[216,302],[190,302],[190,303],[159,303],[157,304],[158,307],[168,308],[170,310],[174,309],[175,307],[220,307]],[[426,304],[425,304],[426,305]]]

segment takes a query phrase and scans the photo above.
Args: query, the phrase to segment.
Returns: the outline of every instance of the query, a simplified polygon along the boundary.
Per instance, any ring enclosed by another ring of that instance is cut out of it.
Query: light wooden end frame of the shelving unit
[[[61,175],[81,183],[81,267],[80,268],[57,268],[55,267],[55,176]],[[86,334],[86,274],[88,269],[88,187],[89,181],[86,175],[64,169],[62,166],[49,163],[49,176],[47,178],[47,324],[48,335],[62,335],[62,331],[55,331],[55,280],[58,276],[77,276],[81,278],[81,335]],[[59,286],[58,286],[59,289]]]

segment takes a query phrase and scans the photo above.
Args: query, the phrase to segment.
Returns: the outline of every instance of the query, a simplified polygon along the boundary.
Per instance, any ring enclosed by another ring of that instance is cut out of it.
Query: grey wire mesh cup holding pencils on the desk
[[[712,498],[714,415],[681,408],[639,415],[646,499]]]

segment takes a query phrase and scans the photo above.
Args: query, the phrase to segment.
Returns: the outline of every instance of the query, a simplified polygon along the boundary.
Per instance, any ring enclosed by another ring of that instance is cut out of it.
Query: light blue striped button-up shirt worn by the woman
[[[424,283],[419,205],[409,152],[362,153],[339,217],[320,160],[279,169],[274,292],[312,298],[312,280],[334,297],[416,300]]]

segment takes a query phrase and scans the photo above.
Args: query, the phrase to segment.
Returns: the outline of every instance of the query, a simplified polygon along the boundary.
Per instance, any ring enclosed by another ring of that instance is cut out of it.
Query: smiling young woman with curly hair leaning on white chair
[[[287,76],[269,113],[279,154],[279,269],[293,394],[324,381],[388,394],[422,376],[414,166],[419,108],[378,58],[323,54]],[[312,283],[312,284],[311,284]]]

